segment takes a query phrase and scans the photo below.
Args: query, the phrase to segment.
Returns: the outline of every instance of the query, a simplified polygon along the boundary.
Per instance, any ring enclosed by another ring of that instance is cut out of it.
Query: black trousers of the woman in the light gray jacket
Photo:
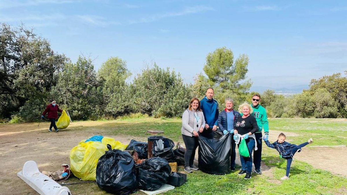
[[[186,145],[186,153],[184,154],[184,167],[189,167],[194,164],[195,150],[199,145],[197,137],[182,135],[184,144]]]

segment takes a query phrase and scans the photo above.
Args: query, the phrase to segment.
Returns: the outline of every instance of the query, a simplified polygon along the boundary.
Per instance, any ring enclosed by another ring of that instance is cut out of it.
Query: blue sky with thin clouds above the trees
[[[226,46],[253,86],[288,87],[347,70],[347,1],[0,0],[0,22],[34,27],[73,62],[111,56],[133,76],[155,61],[187,83]]]

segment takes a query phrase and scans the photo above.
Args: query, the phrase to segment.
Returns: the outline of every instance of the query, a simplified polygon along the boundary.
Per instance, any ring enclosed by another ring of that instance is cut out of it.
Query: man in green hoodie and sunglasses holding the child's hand
[[[257,141],[258,150],[255,150],[253,153],[253,163],[255,172],[257,174],[262,174],[260,171],[260,162],[261,162],[261,151],[262,151],[262,129],[264,129],[264,138],[268,139],[269,137],[269,121],[266,116],[266,110],[262,107],[260,103],[260,95],[254,94],[252,97],[251,107],[253,108],[253,112],[251,115],[256,119],[257,125],[259,127],[258,132],[255,132],[255,140]]]

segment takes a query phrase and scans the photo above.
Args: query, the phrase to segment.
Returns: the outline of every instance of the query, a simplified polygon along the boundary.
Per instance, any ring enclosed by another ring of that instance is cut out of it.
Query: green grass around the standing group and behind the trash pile
[[[347,120],[270,119],[269,122],[270,135],[271,131],[276,131],[276,134],[278,132],[287,133],[291,135],[288,136],[291,143],[299,144],[313,137],[313,146],[347,145]],[[183,142],[180,133],[180,119],[123,117],[113,121],[93,123],[97,125],[88,126],[88,121],[74,122],[74,126],[69,127],[69,131],[66,133],[82,134],[92,131],[95,134],[131,137],[139,141],[146,141],[150,136],[146,132],[152,129],[164,130],[165,137],[175,142]],[[274,139],[273,135],[272,139]],[[316,150],[316,148],[310,150]],[[245,180],[243,176],[237,175],[238,171],[223,176],[194,171],[187,175],[186,184],[165,194],[347,194],[346,176],[336,176],[329,171],[316,169],[311,164],[295,160],[291,168],[290,179],[282,181],[280,178],[285,175],[286,161],[278,157],[276,150],[269,149],[264,144],[262,156],[263,162],[268,168],[263,175],[253,174],[252,179]],[[346,156],[339,158],[345,158],[347,161]],[[182,171],[183,167],[178,169]],[[68,182],[78,182],[78,179],[70,178]],[[73,194],[107,194],[94,183],[68,187]]]

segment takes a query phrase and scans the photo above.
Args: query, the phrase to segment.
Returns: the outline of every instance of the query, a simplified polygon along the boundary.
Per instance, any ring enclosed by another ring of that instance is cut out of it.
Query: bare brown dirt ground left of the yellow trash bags
[[[95,122],[76,122],[69,126],[93,126]],[[39,170],[56,171],[61,169],[62,163],[70,164],[70,150],[83,139],[96,134],[115,138],[122,143],[129,143],[130,137],[115,137],[103,134],[99,129],[62,130],[61,132],[48,132],[47,124],[38,123],[0,125],[0,194],[38,194],[28,187],[17,172],[22,170],[23,164],[34,160]]]

